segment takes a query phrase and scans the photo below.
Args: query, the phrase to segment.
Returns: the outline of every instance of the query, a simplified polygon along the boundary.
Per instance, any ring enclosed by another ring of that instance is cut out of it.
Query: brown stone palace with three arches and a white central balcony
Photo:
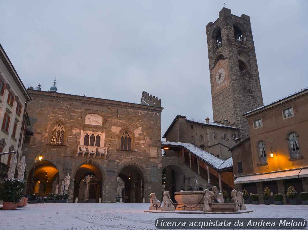
[[[69,201],[114,202],[117,178],[125,183],[124,202],[148,202],[151,192],[161,196],[160,100],[152,106],[62,94],[55,82],[49,92],[28,92],[33,98],[32,135],[25,144],[28,193],[41,183],[42,195],[54,193],[68,174]],[[36,151],[43,160],[31,185]],[[85,178],[91,178],[89,185]]]

